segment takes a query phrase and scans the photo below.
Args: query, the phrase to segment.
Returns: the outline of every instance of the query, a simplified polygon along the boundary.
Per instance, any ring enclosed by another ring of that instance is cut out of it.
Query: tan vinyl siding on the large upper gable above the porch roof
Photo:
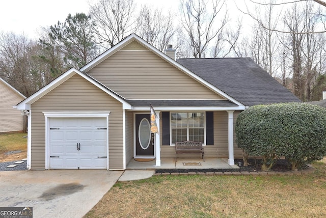
[[[126,99],[224,99],[150,50],[119,50],[87,73]]]

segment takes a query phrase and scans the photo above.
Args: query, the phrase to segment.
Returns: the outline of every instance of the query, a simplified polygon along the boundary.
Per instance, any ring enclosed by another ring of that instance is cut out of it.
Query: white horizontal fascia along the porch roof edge
[[[233,106],[233,107],[222,107],[222,106],[191,106],[191,107],[167,107],[167,106],[155,106],[154,109],[157,111],[244,111],[245,106]],[[135,106],[132,107],[134,111],[149,111],[149,106]]]

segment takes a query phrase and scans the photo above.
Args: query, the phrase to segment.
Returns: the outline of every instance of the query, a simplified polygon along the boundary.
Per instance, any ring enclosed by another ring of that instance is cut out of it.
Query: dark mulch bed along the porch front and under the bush
[[[155,173],[188,173],[188,172],[196,172],[196,173],[207,173],[207,172],[239,172],[239,171],[248,171],[248,172],[259,172],[261,171],[261,159],[248,159],[248,167],[240,167],[240,169],[158,169]],[[242,159],[234,159],[236,165],[238,162],[241,162],[243,166]],[[271,168],[271,171],[275,172],[286,172],[290,171],[290,164],[285,159],[278,159],[274,166]],[[307,166],[308,167],[308,166]],[[306,168],[305,168],[306,169]],[[302,169],[304,170],[304,169]]]

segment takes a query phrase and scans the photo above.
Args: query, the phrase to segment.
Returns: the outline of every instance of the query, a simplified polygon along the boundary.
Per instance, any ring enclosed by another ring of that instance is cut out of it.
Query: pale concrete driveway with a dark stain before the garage
[[[124,171],[0,172],[0,207],[33,207],[33,217],[82,217]]]

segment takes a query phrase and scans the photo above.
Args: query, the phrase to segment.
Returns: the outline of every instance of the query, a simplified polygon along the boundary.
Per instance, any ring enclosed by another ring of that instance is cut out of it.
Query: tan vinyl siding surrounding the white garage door
[[[45,117],[42,112],[111,112],[108,118],[109,168],[123,169],[122,103],[75,74],[31,105],[31,168],[45,168]]]

